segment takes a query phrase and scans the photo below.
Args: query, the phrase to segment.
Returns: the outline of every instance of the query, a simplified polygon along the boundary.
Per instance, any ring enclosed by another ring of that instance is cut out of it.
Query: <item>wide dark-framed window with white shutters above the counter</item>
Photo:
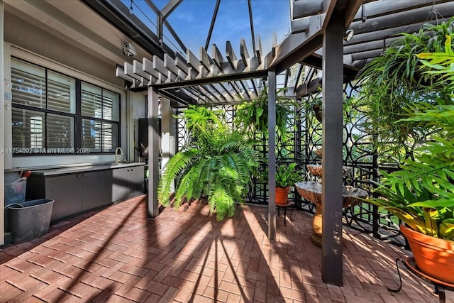
[[[106,153],[118,146],[119,94],[15,58],[11,82],[15,153]]]

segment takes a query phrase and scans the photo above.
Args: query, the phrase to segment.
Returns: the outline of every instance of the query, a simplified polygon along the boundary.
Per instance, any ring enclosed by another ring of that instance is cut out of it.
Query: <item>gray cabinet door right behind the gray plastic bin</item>
[[[54,200],[50,221],[82,211],[81,182],[82,174],[57,175],[45,178],[45,197]]]

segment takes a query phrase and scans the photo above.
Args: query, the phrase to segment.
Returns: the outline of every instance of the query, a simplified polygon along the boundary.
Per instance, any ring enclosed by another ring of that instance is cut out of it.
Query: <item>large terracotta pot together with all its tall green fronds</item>
[[[453,34],[448,35],[443,53],[419,55],[426,72],[454,89]],[[440,85],[439,83],[436,84]],[[407,158],[401,170],[386,174],[375,190],[377,197],[366,199],[397,216],[409,241],[418,268],[437,280],[454,284],[454,102],[445,105],[415,104],[411,123],[434,131],[431,141]]]

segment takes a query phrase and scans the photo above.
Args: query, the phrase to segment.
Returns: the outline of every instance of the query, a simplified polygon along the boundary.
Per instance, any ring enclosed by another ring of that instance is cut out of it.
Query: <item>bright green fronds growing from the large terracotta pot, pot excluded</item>
[[[414,160],[407,159],[402,170],[386,174],[372,204],[386,209],[415,231],[454,241],[454,51],[453,34],[447,35],[445,51],[421,53],[421,63],[431,70],[429,77],[443,80],[450,91],[445,94],[445,105],[414,104],[414,114],[405,119],[419,123],[427,130],[436,131],[421,148]],[[428,60],[428,61],[427,61]],[[439,84],[434,84],[438,86]],[[434,87],[436,91],[436,88]]]

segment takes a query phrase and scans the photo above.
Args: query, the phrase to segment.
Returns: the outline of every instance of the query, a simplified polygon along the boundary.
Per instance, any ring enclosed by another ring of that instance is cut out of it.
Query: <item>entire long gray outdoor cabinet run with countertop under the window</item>
[[[34,171],[27,199],[54,200],[51,221],[80,214],[144,192],[144,164],[69,167]]]

